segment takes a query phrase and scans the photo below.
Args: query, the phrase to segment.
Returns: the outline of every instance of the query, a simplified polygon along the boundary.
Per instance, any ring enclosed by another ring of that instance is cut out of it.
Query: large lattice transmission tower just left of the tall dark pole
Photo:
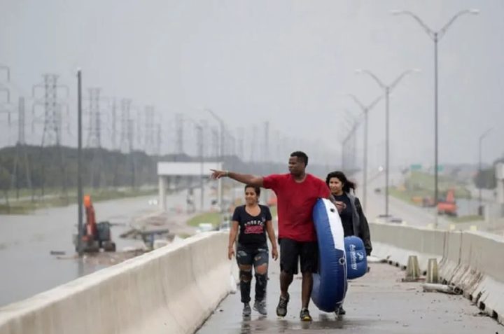
[[[41,162],[42,165],[42,173],[41,173],[41,195],[44,195],[44,187],[45,187],[45,161],[49,160],[50,162],[54,160],[58,160],[59,162],[59,177],[57,179],[62,180],[62,190],[68,202],[68,193],[66,187],[66,168],[64,162],[64,155],[61,147],[61,130],[62,130],[62,109],[68,106],[61,100],[58,99],[58,92],[62,90],[65,92],[65,97],[69,96],[69,88],[66,85],[58,85],[57,84],[58,76],[56,74],[44,74],[43,75],[43,83],[38,85],[34,85],[32,88],[32,95],[35,98],[35,102],[33,105],[34,113],[37,106],[43,106],[44,116],[43,116],[43,134],[42,141],[40,146],[40,154],[38,161]],[[43,97],[36,98],[37,90],[43,89]],[[45,159],[42,158],[44,147],[55,147],[57,151],[57,155],[59,158],[57,159]]]

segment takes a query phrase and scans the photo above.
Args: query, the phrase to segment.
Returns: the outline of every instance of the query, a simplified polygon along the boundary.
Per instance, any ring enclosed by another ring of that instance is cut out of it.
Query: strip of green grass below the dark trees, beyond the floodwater
[[[127,197],[138,197],[153,195],[157,193],[155,189],[118,189],[118,188],[106,188],[106,189],[96,189],[91,188],[85,189],[84,194],[90,194],[93,202],[101,202],[104,200],[115,200],[119,198]],[[13,193],[10,193],[10,197]],[[57,196],[55,196],[57,195]],[[10,207],[7,204],[0,204],[0,214],[29,214],[31,211],[41,208],[48,207],[66,207],[69,204],[74,204],[77,202],[76,190],[69,190],[68,198],[64,195],[58,193],[52,193],[46,198],[39,199],[35,197],[34,202],[31,199],[15,200],[15,198],[9,198]]]

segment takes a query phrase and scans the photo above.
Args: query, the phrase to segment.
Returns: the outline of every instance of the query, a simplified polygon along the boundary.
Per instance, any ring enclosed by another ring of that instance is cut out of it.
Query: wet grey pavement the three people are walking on
[[[423,293],[420,283],[402,283],[404,272],[396,267],[381,263],[370,267],[369,273],[350,283],[346,315],[337,319],[311,303],[314,321],[305,323],[299,319],[300,277],[290,286],[287,316],[276,316],[279,266],[275,263],[269,271],[267,316],[252,311],[250,319],[243,319],[238,290],[221,302],[197,333],[504,333],[504,326],[480,315],[461,295]]]

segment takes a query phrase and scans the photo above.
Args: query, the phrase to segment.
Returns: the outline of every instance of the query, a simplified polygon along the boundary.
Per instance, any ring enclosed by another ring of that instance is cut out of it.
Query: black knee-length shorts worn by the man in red
[[[297,263],[301,264],[301,272],[317,272],[318,244],[317,242],[297,242],[293,239],[279,239],[280,270],[288,274],[297,274]]]

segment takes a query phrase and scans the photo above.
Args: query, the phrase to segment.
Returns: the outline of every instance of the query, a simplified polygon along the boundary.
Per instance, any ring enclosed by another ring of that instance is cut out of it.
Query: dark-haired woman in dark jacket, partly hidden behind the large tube
[[[355,195],[351,194],[351,190],[355,193],[355,183],[346,179],[343,172],[330,172],[325,178],[325,183],[328,185],[332,197],[335,200],[344,202],[346,207],[339,213],[343,225],[345,237],[355,235],[360,237],[364,242],[364,248],[367,256],[371,255],[372,244],[369,224],[365,218],[360,201]],[[343,307],[340,307],[337,314],[345,314]]]

